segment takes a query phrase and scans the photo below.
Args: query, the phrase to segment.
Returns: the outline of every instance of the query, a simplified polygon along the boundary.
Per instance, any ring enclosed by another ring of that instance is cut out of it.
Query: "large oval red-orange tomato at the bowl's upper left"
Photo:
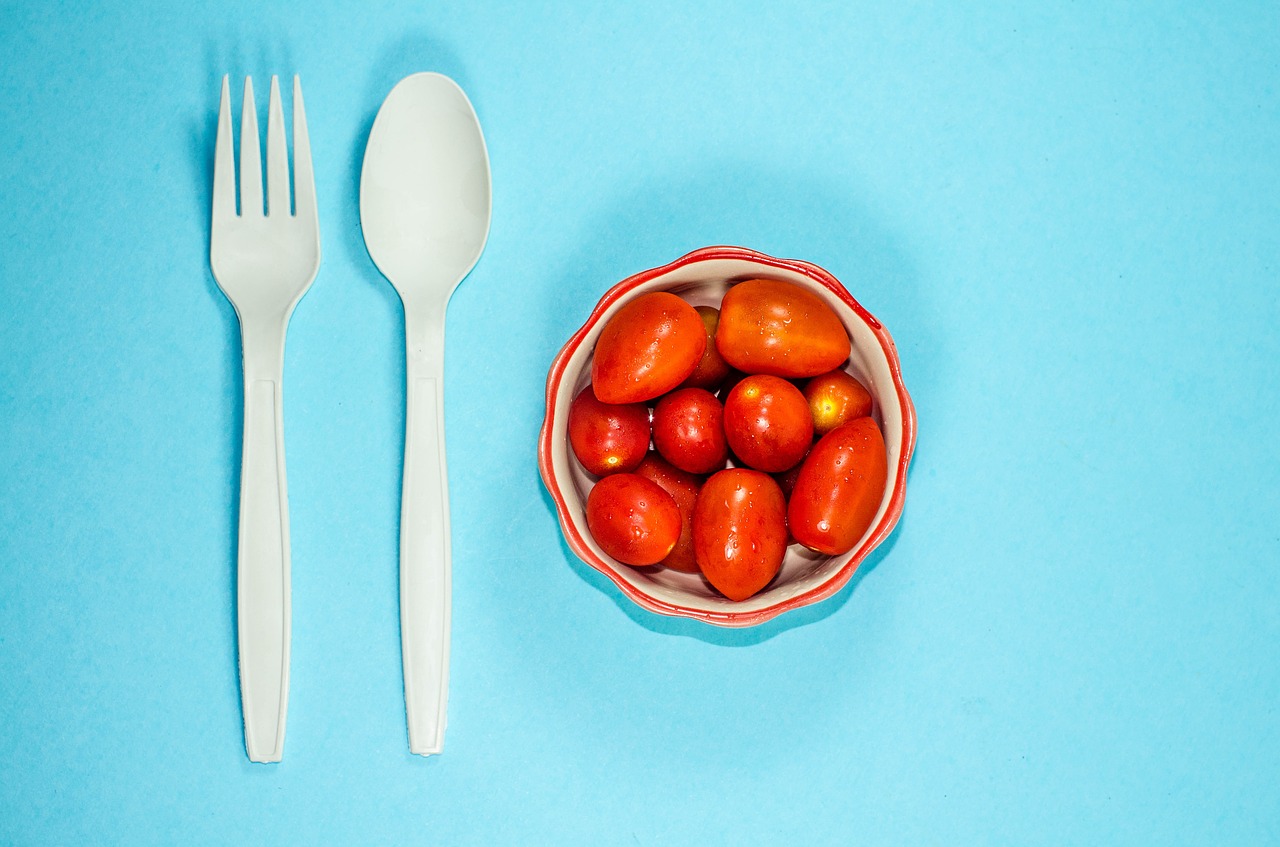
[[[694,307],[667,292],[641,294],[600,330],[591,385],[604,403],[641,403],[684,383],[707,349]]]

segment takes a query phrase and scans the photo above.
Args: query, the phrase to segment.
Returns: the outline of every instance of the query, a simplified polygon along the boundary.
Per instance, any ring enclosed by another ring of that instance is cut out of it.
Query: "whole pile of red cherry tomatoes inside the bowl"
[[[626,303],[568,413],[570,447],[600,477],[586,499],[600,549],[701,572],[731,600],[764,589],[788,544],[852,549],[887,463],[849,353],[831,307],[782,280],[737,283],[718,310],[667,292]]]

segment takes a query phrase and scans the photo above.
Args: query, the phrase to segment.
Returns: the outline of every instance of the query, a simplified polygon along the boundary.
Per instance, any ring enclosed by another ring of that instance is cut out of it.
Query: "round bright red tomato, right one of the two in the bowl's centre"
[[[778,376],[748,376],[724,400],[730,449],[758,471],[795,467],[813,444],[813,415],[791,383]]]

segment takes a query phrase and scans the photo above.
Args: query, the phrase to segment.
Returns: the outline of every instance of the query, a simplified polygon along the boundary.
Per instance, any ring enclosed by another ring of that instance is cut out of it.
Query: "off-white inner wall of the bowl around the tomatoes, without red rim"
[[[687,606],[710,613],[750,613],[785,603],[805,594],[831,580],[850,558],[861,548],[865,537],[850,553],[828,557],[814,553],[799,544],[787,549],[782,569],[777,578],[755,596],[733,601],[721,596],[698,573],[680,573],[667,568],[632,568],[607,555],[591,539],[586,528],[586,495],[596,477],[588,473],[568,449],[568,407],[580,390],[591,381],[591,354],[595,340],[613,313],[631,298],[645,292],[669,290],[694,306],[716,306],[724,292],[737,281],[746,279],[782,279],[803,285],[822,297],[840,316],[849,330],[852,342],[847,370],[872,393],[874,400],[873,416],[884,434],[884,448],[888,453],[890,485],[886,486],[879,511],[872,521],[872,527],[879,523],[893,495],[895,471],[902,453],[902,407],[893,386],[893,377],[879,340],[869,326],[824,285],[801,273],[762,265],[750,260],[705,260],[678,267],[657,276],[632,289],[620,302],[613,303],[582,343],[573,352],[564,368],[559,390],[556,394],[554,431],[552,432],[552,470],[561,484],[570,519],[575,523],[582,540],[620,578],[657,600]],[[870,530],[868,530],[870,534]]]

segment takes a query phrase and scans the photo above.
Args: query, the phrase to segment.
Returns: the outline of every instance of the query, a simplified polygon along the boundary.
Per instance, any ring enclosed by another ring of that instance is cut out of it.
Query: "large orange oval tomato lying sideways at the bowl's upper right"
[[[826,374],[849,358],[849,333],[817,294],[794,283],[751,279],[721,302],[716,347],[748,374],[797,379]]]

